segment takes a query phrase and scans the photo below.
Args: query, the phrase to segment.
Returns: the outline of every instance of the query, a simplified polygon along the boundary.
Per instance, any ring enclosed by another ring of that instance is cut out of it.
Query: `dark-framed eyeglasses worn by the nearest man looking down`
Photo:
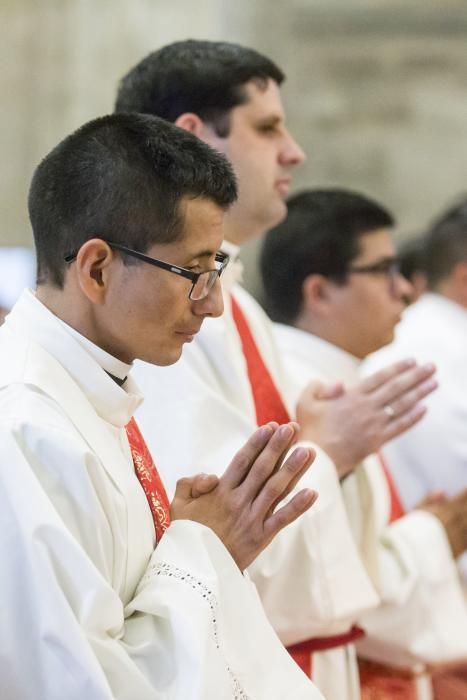
[[[155,265],[155,267],[160,267],[168,272],[173,272],[179,277],[186,277],[186,279],[189,279],[192,286],[190,293],[188,294],[188,298],[192,301],[205,299],[216,283],[216,280],[221,276],[229,264],[229,256],[226,253],[219,251],[216,253],[215,257],[215,261],[219,264],[219,267],[215,268],[214,270],[205,270],[204,272],[193,272],[192,270],[187,270],[185,267],[179,267],[178,265],[172,265],[172,263],[167,263],[163,260],[157,260],[157,258],[151,258],[149,255],[140,253],[139,250],[127,248],[120,243],[114,243],[113,241],[107,241],[105,239],[102,240],[104,240],[111,248],[119,250],[125,255],[130,255],[131,257],[147,262],[150,265]],[[76,259],[77,255],[77,250],[65,255],[65,262],[72,263]]]

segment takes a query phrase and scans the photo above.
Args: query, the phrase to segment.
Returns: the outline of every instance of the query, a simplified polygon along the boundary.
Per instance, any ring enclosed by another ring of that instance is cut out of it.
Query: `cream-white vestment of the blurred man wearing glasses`
[[[277,342],[299,392],[304,379],[355,385],[359,361],[321,338],[275,324]],[[365,656],[394,665],[467,657],[467,606],[440,521],[412,511],[392,524],[380,460],[370,456],[343,482],[356,541],[381,596],[362,616]]]

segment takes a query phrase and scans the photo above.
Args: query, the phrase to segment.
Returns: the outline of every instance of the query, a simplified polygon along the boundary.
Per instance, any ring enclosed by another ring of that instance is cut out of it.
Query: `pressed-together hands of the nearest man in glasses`
[[[171,504],[172,520],[195,520],[210,527],[243,571],[317,498],[315,491],[302,489],[279,505],[315,457],[308,447],[287,455],[297,433],[296,423],[269,423],[253,433],[221,477],[199,474],[180,479]]]

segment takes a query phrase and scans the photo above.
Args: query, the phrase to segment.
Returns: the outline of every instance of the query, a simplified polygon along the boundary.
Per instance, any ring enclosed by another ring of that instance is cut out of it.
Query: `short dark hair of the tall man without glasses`
[[[178,41],[150,53],[121,80],[115,111],[155,114],[174,122],[193,112],[219,136],[229,132],[228,115],[246,102],[251,80],[278,85],[284,74],[254,49],[221,41]]]

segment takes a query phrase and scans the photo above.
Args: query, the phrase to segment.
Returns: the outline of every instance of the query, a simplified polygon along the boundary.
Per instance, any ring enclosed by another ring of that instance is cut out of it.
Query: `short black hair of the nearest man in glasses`
[[[227,208],[237,196],[228,161],[156,117],[118,114],[85,124],[44,158],[32,179],[38,283],[62,288],[65,256],[91,238],[141,252],[177,240],[185,196]]]

